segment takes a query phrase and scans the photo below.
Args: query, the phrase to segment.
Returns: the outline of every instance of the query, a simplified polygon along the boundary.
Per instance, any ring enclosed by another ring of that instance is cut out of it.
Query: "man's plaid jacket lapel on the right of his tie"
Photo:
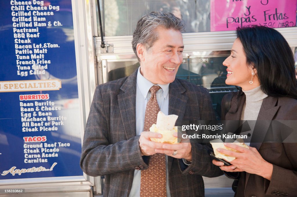
[[[184,96],[186,89],[176,79],[169,85],[169,108],[168,115],[178,115],[176,125],[181,125],[186,111],[188,97]],[[168,170],[171,169],[173,157],[168,156]]]

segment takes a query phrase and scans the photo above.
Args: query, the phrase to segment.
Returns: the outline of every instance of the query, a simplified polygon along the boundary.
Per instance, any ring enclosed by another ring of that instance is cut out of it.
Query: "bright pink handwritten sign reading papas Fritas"
[[[211,0],[211,31],[236,30],[238,26],[271,28],[296,26],[296,0]]]

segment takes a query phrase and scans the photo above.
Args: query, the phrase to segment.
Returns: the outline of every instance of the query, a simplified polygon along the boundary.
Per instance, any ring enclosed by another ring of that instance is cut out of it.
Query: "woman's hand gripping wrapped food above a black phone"
[[[247,149],[233,143],[224,143],[224,145],[226,147],[233,148],[239,151],[239,153],[218,148],[217,151],[219,151],[220,153],[236,157],[236,159],[230,162],[232,164],[231,166],[221,166],[222,170],[227,172],[245,171],[271,180],[273,165],[266,162],[256,148],[249,146],[249,149]],[[219,162],[215,162],[214,164],[217,165],[219,164]],[[234,167],[236,168],[232,169]]]

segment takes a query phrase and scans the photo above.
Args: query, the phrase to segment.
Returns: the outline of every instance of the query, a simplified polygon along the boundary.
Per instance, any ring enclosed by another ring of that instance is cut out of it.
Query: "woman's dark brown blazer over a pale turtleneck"
[[[222,103],[225,103],[225,98],[226,96]],[[222,114],[222,119],[240,120],[244,103],[245,95],[238,97],[236,93],[231,100],[230,110],[226,115]],[[223,104],[222,107],[224,112]],[[252,139],[254,135],[264,139],[268,129],[273,126],[273,123],[267,124],[269,120],[297,120],[297,100],[288,97],[266,97],[260,108]],[[261,124],[263,122],[265,124]],[[290,122],[296,125],[296,121]],[[259,125],[260,129],[257,128]],[[258,132],[259,130],[261,132]],[[296,131],[292,134],[294,138],[291,140],[296,142]],[[247,172],[225,172],[230,178],[239,178],[235,196],[297,196],[297,143],[251,143],[250,146],[257,148],[263,159],[273,164],[272,177],[269,181]]]

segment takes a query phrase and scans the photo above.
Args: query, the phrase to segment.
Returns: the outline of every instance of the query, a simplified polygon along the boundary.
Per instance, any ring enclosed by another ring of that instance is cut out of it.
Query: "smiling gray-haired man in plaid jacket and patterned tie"
[[[178,115],[178,125],[215,118],[205,88],[175,79],[184,28],[184,21],[168,12],[143,16],[132,40],[140,68],[96,88],[80,166],[88,175],[105,175],[104,196],[204,196],[201,175],[222,174],[207,146],[153,142],[150,138],[162,135],[144,129],[149,102],[157,104],[157,111]],[[156,85],[160,89],[154,92]]]

